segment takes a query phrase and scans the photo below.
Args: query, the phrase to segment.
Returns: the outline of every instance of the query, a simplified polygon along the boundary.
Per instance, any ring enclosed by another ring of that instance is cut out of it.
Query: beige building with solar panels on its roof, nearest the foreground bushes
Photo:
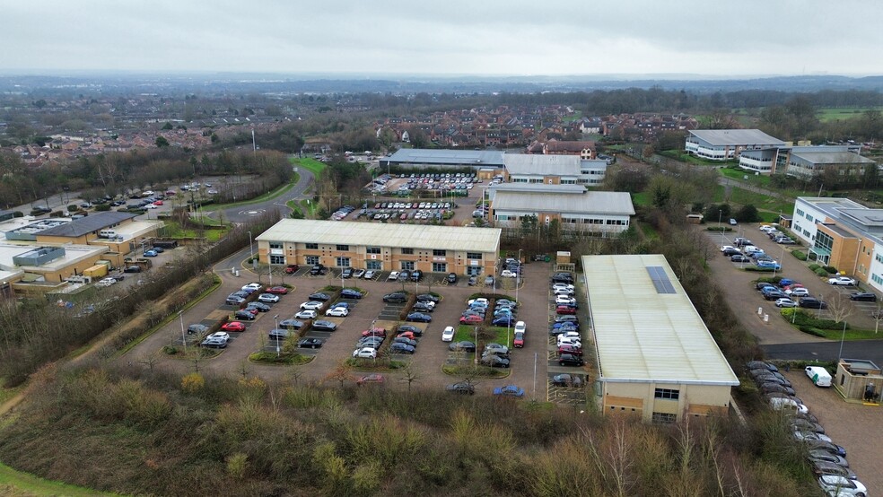
[[[584,256],[606,414],[727,414],[739,379],[661,255]]]

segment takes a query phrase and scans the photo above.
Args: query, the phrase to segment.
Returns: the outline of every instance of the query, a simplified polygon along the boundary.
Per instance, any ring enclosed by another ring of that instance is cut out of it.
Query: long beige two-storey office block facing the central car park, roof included
[[[494,274],[500,230],[283,219],[258,237],[262,264]]]

